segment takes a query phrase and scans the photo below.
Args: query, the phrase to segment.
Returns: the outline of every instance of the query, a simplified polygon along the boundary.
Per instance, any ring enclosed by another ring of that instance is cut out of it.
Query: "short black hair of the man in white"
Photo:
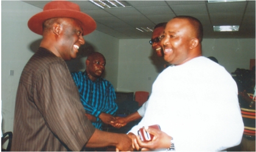
[[[197,33],[197,38],[199,42],[202,42],[203,37],[203,27],[202,23],[199,21],[199,19],[194,18],[193,16],[176,16],[174,18],[180,18],[180,19],[188,19],[190,21],[191,25],[194,27],[194,30]]]

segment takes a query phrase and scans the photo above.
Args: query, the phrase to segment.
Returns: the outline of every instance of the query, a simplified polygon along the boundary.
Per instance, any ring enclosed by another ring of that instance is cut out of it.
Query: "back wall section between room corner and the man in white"
[[[165,61],[156,56],[147,39],[119,40],[118,64],[118,91],[151,92]]]

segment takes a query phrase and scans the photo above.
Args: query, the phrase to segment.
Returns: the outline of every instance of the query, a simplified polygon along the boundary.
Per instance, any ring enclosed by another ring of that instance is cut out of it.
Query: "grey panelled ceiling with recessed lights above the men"
[[[49,1],[24,1],[43,9]],[[126,1],[131,7],[101,9],[90,1],[72,1],[90,15],[96,30],[119,39],[151,38],[152,32],[136,27],[154,27],[178,15],[194,16],[202,22],[204,38],[255,38],[255,1]],[[213,32],[213,26],[240,26],[238,32]]]

